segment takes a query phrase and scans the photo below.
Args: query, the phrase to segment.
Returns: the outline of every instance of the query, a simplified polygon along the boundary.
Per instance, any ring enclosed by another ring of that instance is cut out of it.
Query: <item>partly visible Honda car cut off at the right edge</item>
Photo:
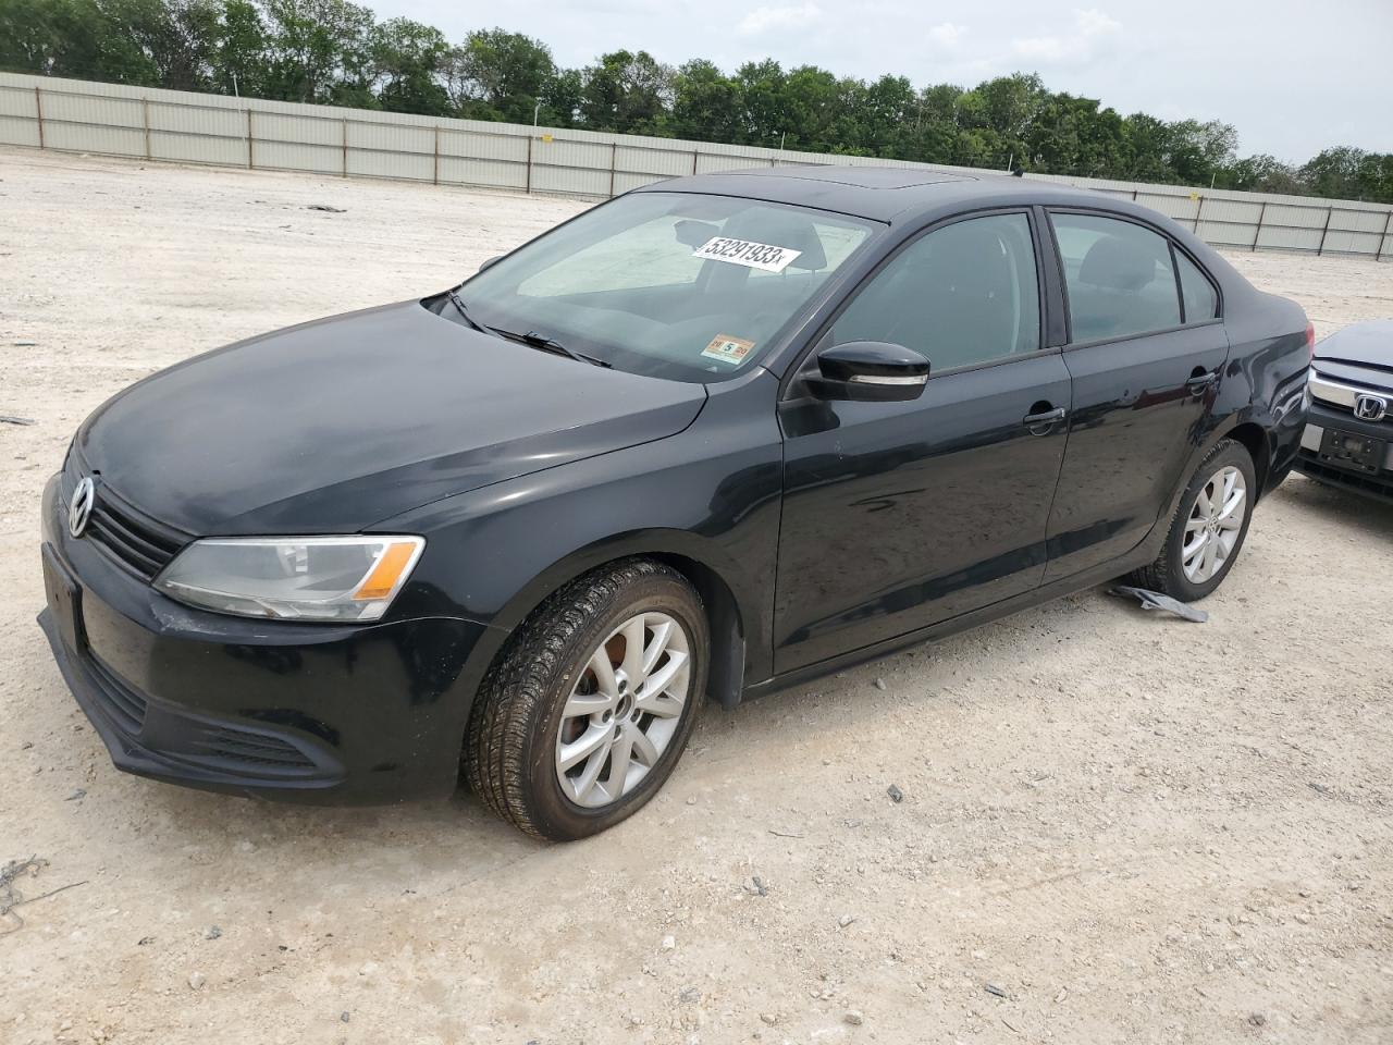
[[[1393,319],[1354,323],[1323,339],[1309,389],[1297,470],[1393,503]]]

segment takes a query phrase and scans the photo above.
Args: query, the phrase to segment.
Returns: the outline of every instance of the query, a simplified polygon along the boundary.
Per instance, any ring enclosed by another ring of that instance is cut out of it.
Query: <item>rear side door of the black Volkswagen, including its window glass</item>
[[[1068,315],[1073,414],[1045,580],[1135,548],[1204,438],[1229,339],[1216,284],[1156,229],[1050,210]]]

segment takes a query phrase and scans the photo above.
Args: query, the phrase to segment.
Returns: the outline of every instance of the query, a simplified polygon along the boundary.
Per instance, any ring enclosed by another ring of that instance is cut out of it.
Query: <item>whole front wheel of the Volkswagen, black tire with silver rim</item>
[[[641,683],[628,687],[634,634],[644,635],[637,662],[657,652],[652,672],[635,669]],[[660,563],[628,559],[571,581],[518,627],[479,687],[464,743],[467,783],[539,839],[571,842],[614,826],[677,766],[705,699],[709,645],[701,598]],[[630,761],[617,761],[625,752]]]

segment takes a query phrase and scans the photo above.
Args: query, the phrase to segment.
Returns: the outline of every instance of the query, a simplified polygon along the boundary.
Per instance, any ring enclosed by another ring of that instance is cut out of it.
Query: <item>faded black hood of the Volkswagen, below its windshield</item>
[[[88,418],[77,447],[127,502],[196,536],[336,534],[676,435],[705,398],[411,301],[162,371]]]

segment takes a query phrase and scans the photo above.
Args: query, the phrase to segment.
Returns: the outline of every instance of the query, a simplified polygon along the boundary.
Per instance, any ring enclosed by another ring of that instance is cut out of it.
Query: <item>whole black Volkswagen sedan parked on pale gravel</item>
[[[726,706],[1134,574],[1198,599],[1291,468],[1311,329],[1020,178],[663,183],[462,286],[189,359],[43,503],[116,764],[575,839]]]

